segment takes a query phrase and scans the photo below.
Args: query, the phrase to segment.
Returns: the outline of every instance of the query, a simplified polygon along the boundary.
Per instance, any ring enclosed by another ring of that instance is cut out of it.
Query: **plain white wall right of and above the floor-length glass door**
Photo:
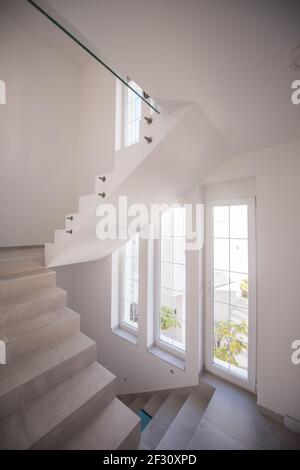
[[[224,191],[227,197],[230,187],[237,190],[231,182],[243,178],[247,193],[251,176],[257,196],[257,401],[300,419],[300,366],[291,362],[291,343],[300,339],[300,142],[235,155],[207,178],[206,194],[212,198],[211,184],[227,181],[216,198]]]

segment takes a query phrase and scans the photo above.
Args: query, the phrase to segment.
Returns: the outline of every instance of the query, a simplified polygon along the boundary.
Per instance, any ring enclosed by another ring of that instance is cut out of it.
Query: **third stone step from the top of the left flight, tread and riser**
[[[17,297],[0,300],[0,329],[66,305],[67,293],[59,287],[35,289]]]

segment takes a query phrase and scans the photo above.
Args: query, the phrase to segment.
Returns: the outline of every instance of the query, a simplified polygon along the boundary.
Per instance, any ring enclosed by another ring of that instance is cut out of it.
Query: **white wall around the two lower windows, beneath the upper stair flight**
[[[199,188],[182,202],[201,201]],[[69,305],[81,314],[81,328],[97,342],[98,359],[118,378],[118,392],[130,393],[175,388],[198,383],[203,366],[202,251],[187,254],[187,323],[185,371],[147,352],[151,313],[147,304],[147,241],[141,241],[139,333],[132,344],[111,331],[111,256],[89,263],[56,268],[57,283],[69,294]],[[199,296],[200,293],[200,296]],[[151,296],[151,292],[149,293]],[[151,341],[150,341],[151,342]],[[173,373],[171,372],[173,371]],[[124,377],[127,380],[124,380]]]

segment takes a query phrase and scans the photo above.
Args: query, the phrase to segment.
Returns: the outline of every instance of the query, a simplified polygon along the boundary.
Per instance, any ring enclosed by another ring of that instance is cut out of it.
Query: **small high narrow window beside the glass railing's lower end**
[[[129,85],[139,93],[141,88],[130,81]],[[142,100],[130,88],[126,89],[126,117],[125,117],[125,145],[136,144],[140,140],[140,120],[141,120]]]

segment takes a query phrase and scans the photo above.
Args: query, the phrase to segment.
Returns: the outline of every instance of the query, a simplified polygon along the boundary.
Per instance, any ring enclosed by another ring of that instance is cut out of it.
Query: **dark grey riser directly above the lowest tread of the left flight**
[[[58,449],[62,443],[73,434],[79,432],[96,413],[107,406],[116,396],[116,378],[106,387],[95,394],[89,401],[78,408],[71,416],[62,421],[48,434],[36,442],[31,449],[54,450]]]

